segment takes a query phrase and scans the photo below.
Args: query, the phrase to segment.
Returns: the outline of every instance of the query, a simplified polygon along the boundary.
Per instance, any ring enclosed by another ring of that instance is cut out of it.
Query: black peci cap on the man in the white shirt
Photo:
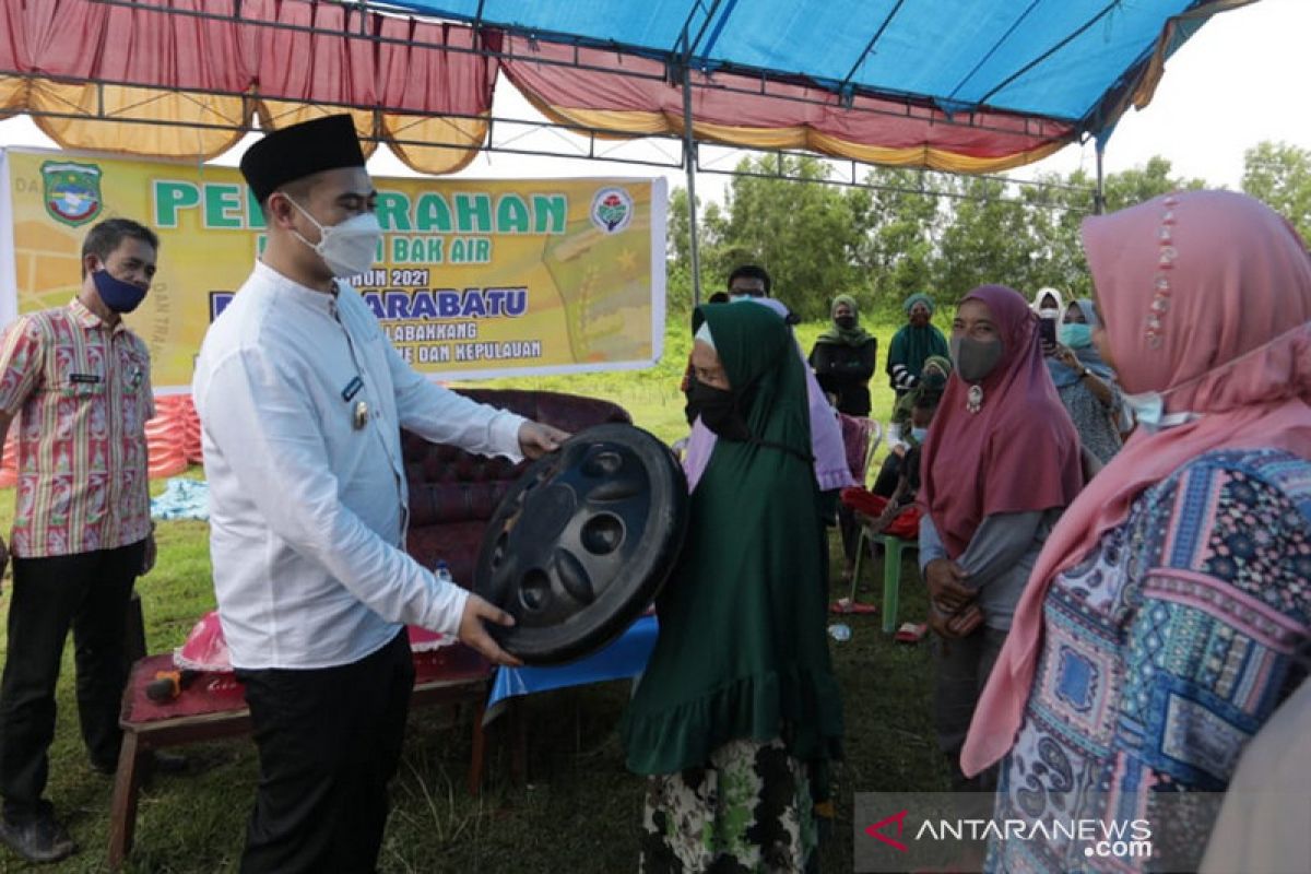
[[[287,182],[342,166],[364,166],[350,115],[325,115],[273,131],[241,156],[241,176],[256,200]]]

